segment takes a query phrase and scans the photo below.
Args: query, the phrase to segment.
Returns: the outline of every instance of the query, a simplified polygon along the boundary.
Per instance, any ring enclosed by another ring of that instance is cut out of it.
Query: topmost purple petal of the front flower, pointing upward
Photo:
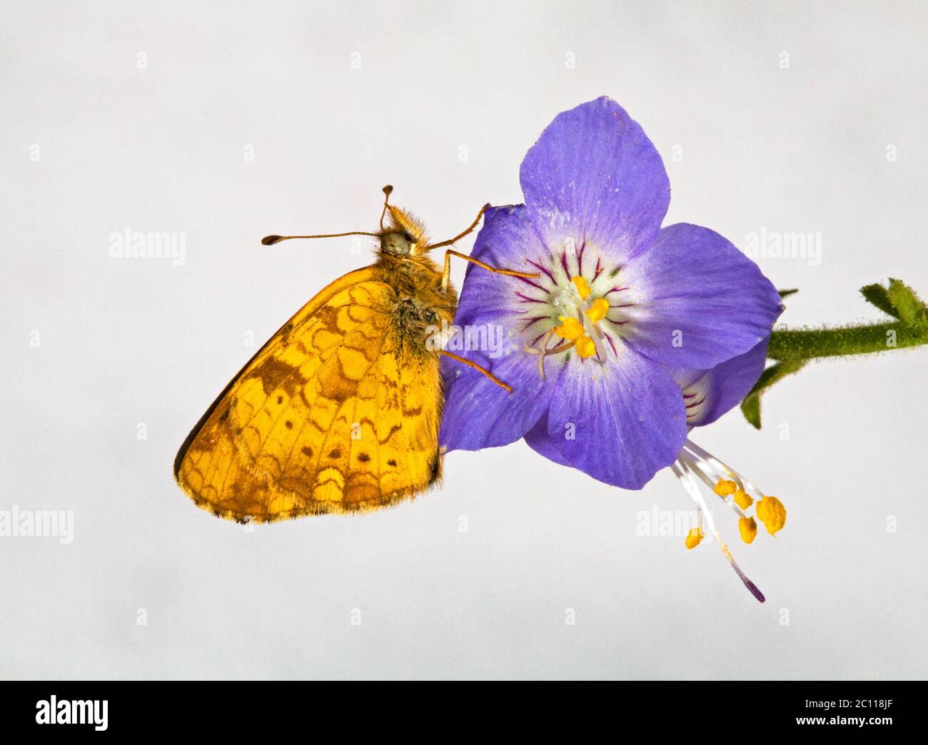
[[[664,161],[607,96],[558,114],[525,155],[520,180],[548,245],[587,239],[619,262],[651,246],[670,203]]]

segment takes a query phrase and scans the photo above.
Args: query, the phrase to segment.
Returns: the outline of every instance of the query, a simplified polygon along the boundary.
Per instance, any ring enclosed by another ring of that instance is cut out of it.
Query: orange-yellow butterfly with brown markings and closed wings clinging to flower
[[[392,505],[441,476],[442,355],[511,392],[482,366],[430,343],[429,332],[454,322],[452,256],[501,275],[537,275],[452,249],[440,270],[428,252],[467,236],[487,205],[458,236],[430,244],[419,220],[390,204],[392,191],[383,187],[377,232],[262,240],[372,236],[379,246],[373,264],[297,311],[187,435],[174,478],[199,507],[228,520],[273,522]]]

